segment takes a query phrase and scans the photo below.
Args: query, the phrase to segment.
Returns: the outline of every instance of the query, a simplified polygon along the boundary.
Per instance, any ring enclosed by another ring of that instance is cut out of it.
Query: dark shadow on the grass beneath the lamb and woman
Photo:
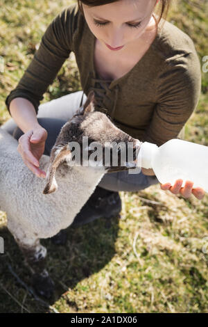
[[[42,298],[46,302],[44,305],[31,294],[31,272],[24,264],[24,257],[12,234],[3,226],[0,229],[4,239],[4,254],[0,255],[0,312],[51,312],[49,305],[112,260],[118,230],[119,216],[111,218],[110,222],[100,218],[83,226],[69,226],[64,246],[53,244],[51,239],[41,239],[47,249],[46,269],[55,282],[55,296],[51,301]],[[75,312],[78,311],[78,304],[70,301],[69,296],[67,303]]]

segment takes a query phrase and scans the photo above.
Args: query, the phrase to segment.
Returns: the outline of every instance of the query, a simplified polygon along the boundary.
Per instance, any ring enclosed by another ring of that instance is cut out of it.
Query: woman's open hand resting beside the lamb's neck
[[[46,173],[37,168],[39,167],[39,160],[44,153],[45,142],[48,136],[48,132],[41,126],[35,127],[27,131],[20,136],[17,147],[17,151],[21,154],[21,157],[26,166],[37,176],[46,177]]]

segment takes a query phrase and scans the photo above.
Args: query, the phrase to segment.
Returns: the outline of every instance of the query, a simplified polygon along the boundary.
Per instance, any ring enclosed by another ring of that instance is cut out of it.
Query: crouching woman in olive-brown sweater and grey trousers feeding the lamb
[[[153,14],[157,3],[161,14]],[[26,166],[38,177],[42,154],[50,154],[60,128],[94,89],[96,110],[140,141],[162,145],[182,137],[200,97],[200,62],[189,35],[162,19],[171,0],[78,0],[60,13],[43,35],[40,48],[6,99],[13,120],[3,125],[17,140]],[[158,3],[158,4],[159,4]],[[40,104],[73,51],[83,92]],[[14,122],[15,121],[15,122]],[[15,124],[16,123],[16,124]],[[152,169],[139,174],[106,174],[76,216],[74,225],[121,210],[118,191],[138,191],[159,181]],[[182,180],[163,190],[189,198],[205,196]]]

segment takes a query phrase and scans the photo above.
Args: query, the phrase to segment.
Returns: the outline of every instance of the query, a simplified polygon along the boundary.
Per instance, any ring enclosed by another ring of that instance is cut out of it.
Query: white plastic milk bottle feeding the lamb
[[[140,157],[141,156],[141,157]],[[208,193],[208,147],[173,138],[160,147],[153,143],[141,144],[138,158],[141,167],[152,168],[160,183],[175,184],[182,179],[194,187],[202,187]]]

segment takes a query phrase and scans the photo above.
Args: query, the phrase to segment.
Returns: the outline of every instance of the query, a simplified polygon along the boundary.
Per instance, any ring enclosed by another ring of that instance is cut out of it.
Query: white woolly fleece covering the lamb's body
[[[71,225],[106,170],[61,164],[55,174],[57,191],[45,195],[46,180],[26,167],[17,146],[18,141],[0,128],[0,210],[6,212],[13,236],[30,244]],[[48,166],[49,156],[43,154],[40,168],[47,171]]]

